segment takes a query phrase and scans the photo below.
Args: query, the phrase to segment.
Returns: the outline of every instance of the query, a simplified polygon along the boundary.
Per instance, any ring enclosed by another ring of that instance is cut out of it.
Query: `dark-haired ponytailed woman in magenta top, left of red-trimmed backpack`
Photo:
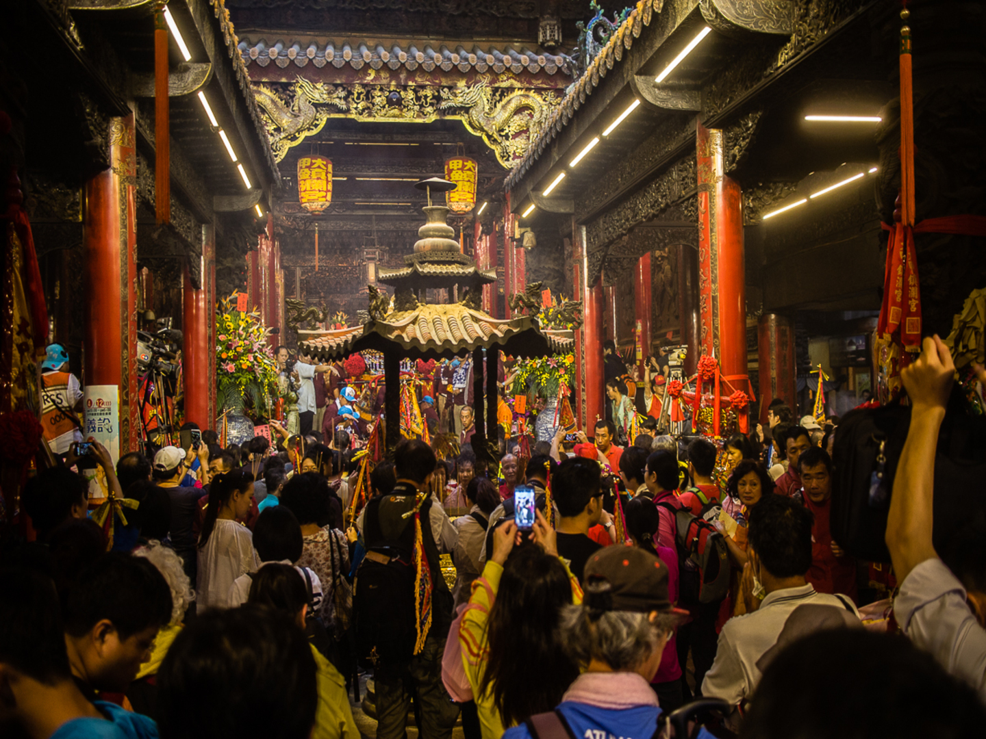
[[[678,561],[677,553],[669,547],[658,546],[658,525],[661,516],[657,506],[647,498],[634,498],[626,504],[626,531],[630,535],[633,546],[649,552],[662,564],[668,566],[668,597],[671,603],[678,596]],[[687,643],[684,646],[687,649]],[[687,657],[687,654],[685,654]],[[661,708],[672,711],[684,704],[681,693],[681,664],[678,658],[677,643],[672,632],[668,639],[668,648],[661,655],[661,665],[651,680],[651,688],[658,694]]]

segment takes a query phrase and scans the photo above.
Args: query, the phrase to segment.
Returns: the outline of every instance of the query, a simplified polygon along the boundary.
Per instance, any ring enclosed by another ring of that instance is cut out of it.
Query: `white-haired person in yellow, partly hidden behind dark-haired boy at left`
[[[137,677],[134,678],[126,692],[126,697],[135,711],[157,719],[158,688],[156,678],[158,668],[161,667],[168,649],[181,631],[181,622],[188,606],[195,600],[195,591],[191,587],[191,580],[185,574],[181,558],[171,547],[152,539],[146,546],[135,549],[133,556],[150,560],[151,564],[165,576],[165,580],[172,591],[171,623],[158,632],[151,656],[147,661],[141,663]]]

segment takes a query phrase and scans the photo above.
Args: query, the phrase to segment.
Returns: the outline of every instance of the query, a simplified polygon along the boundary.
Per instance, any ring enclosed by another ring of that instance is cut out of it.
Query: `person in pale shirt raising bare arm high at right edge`
[[[986,384],[986,370],[975,370]],[[885,536],[900,582],[893,615],[901,631],[986,701],[986,541],[975,529],[960,534],[969,557],[956,572],[932,542],[935,454],[954,375],[951,352],[937,334],[924,340],[921,356],[900,372],[911,424],[893,479]]]

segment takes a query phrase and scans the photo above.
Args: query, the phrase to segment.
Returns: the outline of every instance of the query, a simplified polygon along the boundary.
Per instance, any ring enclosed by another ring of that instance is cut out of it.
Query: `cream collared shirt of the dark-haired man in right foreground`
[[[740,705],[760,682],[756,661],[777,642],[788,616],[806,603],[846,608],[859,616],[852,601],[842,598],[817,593],[810,584],[786,587],[767,595],[756,611],[727,621],[719,635],[716,660],[702,681],[702,696]]]

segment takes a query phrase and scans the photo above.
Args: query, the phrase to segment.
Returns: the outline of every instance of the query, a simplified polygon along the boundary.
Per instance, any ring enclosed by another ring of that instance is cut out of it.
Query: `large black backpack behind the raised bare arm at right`
[[[833,448],[831,531],[839,546],[861,560],[888,563],[886,516],[893,478],[911,423],[898,402],[858,408],[842,417]],[[956,531],[986,510],[986,417],[969,413],[955,386],[935,454],[933,541],[945,553]]]

